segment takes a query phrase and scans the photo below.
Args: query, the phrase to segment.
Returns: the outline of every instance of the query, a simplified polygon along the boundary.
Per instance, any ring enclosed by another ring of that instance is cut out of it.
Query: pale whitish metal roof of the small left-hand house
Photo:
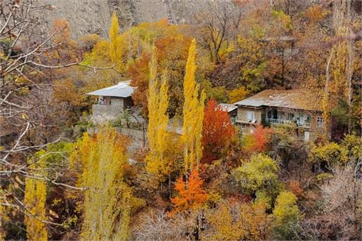
[[[107,88],[98,89],[98,91],[93,91],[87,93],[90,96],[114,96],[114,97],[130,97],[135,90],[134,87],[130,86],[130,80],[124,82],[119,82],[114,86],[109,86]]]

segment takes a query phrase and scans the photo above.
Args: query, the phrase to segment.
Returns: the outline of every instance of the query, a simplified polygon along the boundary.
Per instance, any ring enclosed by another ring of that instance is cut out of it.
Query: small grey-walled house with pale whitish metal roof
[[[131,97],[133,91],[134,87],[130,86],[130,80],[128,80],[87,93],[90,96],[98,96],[97,103],[92,107],[93,122],[109,122],[121,117],[125,110],[130,110],[134,105]]]

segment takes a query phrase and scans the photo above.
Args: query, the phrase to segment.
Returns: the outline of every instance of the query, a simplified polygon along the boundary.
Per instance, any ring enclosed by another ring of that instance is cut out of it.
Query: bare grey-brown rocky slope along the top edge
[[[55,6],[41,16],[47,25],[55,18],[66,18],[75,38],[92,33],[106,37],[113,11],[118,13],[122,28],[162,18],[180,24],[188,22],[207,1],[213,0],[39,0]]]

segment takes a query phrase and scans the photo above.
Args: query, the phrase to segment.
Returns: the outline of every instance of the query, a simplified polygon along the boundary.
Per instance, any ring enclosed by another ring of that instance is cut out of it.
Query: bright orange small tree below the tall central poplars
[[[208,194],[203,189],[203,179],[199,176],[199,171],[192,170],[187,182],[182,176],[176,180],[175,189],[178,192],[176,197],[171,198],[175,209],[171,214],[177,211],[185,211],[187,209],[196,209],[201,207],[208,200]]]

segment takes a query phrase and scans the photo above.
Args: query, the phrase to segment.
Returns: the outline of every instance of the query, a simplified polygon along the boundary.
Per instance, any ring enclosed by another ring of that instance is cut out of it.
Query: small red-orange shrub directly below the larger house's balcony
[[[243,138],[243,150],[246,152],[264,152],[270,141],[272,129],[257,125],[255,131]]]

